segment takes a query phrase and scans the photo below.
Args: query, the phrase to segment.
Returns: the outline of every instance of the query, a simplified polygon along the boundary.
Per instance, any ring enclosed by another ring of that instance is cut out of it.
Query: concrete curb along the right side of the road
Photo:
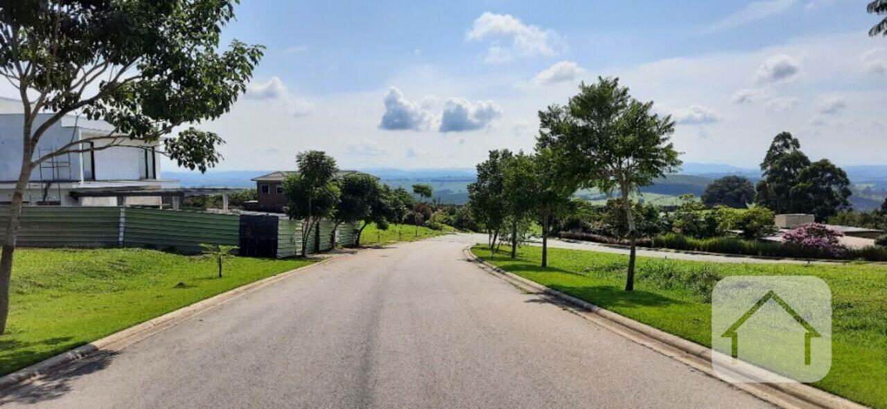
[[[711,368],[712,351],[708,347],[687,341],[679,336],[671,335],[660,329],[650,327],[647,324],[642,324],[636,320],[626,318],[577,297],[572,297],[560,291],[549,289],[537,282],[532,282],[519,275],[509,273],[506,270],[493,266],[485,260],[475,256],[471,251],[471,246],[467,247],[463,253],[468,260],[506,282],[510,282],[522,289],[527,289],[536,294],[544,294],[546,296],[558,298],[563,302],[569,303],[569,305],[572,305],[573,307],[577,307],[571,311],[572,313],[577,313],[577,315],[587,320],[591,320],[620,336],[629,338],[635,343],[640,343],[667,357],[677,359],[680,362],[703,372],[703,374],[718,378],[717,374],[715,374],[714,370]],[[734,388],[744,390],[755,397],[781,407],[841,409],[864,409],[867,407],[825,390],[813,388],[804,383],[729,384]]]

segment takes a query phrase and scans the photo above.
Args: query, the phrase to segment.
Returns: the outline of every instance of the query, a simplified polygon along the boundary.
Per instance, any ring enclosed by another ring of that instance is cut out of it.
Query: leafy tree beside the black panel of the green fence
[[[302,220],[302,256],[305,256],[308,239],[317,235],[320,220],[334,214],[339,202],[339,185],[334,177],[339,172],[335,159],[321,150],[306,150],[296,156],[299,172],[287,176],[283,182],[288,198],[287,214],[291,219]]]

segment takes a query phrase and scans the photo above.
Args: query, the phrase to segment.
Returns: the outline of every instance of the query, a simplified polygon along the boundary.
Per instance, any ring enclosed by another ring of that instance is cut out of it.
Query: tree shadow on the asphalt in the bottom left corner
[[[26,385],[12,390],[3,390],[0,406],[12,403],[35,405],[58,399],[71,391],[71,382],[83,375],[105,369],[119,353],[117,351],[95,351],[74,363],[56,368],[49,374],[44,374]]]

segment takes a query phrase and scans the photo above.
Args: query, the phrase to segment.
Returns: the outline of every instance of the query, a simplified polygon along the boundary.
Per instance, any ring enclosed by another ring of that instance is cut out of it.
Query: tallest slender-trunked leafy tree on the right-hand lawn
[[[581,84],[566,106],[539,112],[539,121],[538,144],[558,150],[583,187],[621,195],[631,243],[625,289],[631,291],[637,233],[630,197],[680,166],[679,152],[670,141],[674,122],[654,113],[652,102],[630,96],[628,88],[612,78]]]

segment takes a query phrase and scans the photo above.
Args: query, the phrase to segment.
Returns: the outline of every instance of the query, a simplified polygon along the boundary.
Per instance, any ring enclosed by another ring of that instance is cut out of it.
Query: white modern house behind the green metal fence
[[[35,126],[50,116],[51,113],[39,114]],[[23,124],[21,102],[0,97],[0,205],[10,203],[19,178]],[[35,158],[68,143],[108,135],[112,130],[104,121],[66,116],[43,135]],[[89,146],[100,147],[103,143],[106,142]],[[26,205],[161,206],[162,197],[173,197],[177,204],[184,191],[178,181],[161,177],[158,143],[129,140],[125,144],[129,146],[71,153],[43,162],[31,174],[24,197]]]

